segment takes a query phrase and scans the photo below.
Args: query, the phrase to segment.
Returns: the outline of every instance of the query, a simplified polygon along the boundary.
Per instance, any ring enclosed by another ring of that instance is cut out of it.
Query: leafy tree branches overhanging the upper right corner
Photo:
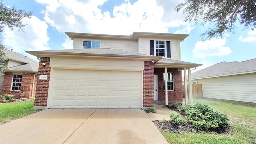
[[[201,34],[202,40],[234,33],[236,22],[244,25],[243,30],[256,28],[256,0],[184,0],[174,10],[179,12],[182,8],[185,22],[201,21],[202,26],[214,23],[214,28]]]

